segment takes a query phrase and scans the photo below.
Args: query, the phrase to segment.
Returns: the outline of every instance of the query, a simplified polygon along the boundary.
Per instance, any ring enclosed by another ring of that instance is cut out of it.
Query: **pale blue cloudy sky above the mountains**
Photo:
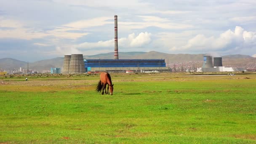
[[[119,52],[256,56],[255,8],[254,0],[0,0],[0,59],[114,52],[114,15]]]

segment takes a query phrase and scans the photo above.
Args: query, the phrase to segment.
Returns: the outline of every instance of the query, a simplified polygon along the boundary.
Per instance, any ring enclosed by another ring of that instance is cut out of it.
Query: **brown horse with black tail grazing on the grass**
[[[113,94],[113,89],[114,89],[113,88],[114,84],[112,84],[111,77],[110,77],[109,73],[102,72],[100,77],[101,77],[101,80],[99,81],[99,83],[97,85],[96,91],[98,91],[98,92],[102,91],[101,95],[103,95],[104,90],[105,90],[106,94],[109,94],[109,90],[110,90],[110,95],[112,95]],[[107,91],[106,91],[106,87],[107,87]]]

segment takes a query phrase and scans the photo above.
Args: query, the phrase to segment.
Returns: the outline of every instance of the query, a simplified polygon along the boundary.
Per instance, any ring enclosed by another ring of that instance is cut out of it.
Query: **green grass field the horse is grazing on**
[[[256,144],[256,75],[3,77],[0,143]]]

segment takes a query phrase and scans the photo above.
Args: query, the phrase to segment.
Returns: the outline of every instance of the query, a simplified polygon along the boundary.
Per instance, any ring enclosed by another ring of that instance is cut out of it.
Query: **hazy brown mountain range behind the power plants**
[[[183,63],[189,64],[192,62],[195,67],[202,67],[203,56],[205,54],[168,54],[157,51],[150,52],[119,52],[119,59],[165,59],[166,64],[172,67],[172,64],[179,66]],[[92,56],[83,56],[84,59],[113,59],[114,53],[102,53]],[[214,57],[214,56],[213,56]],[[248,69],[256,69],[256,58],[247,55],[226,55],[222,57],[222,64],[225,67],[245,67]],[[62,67],[64,63],[64,56],[54,59],[46,59],[41,61],[29,62],[29,69],[35,71],[50,70],[51,67]],[[0,70],[18,70],[27,69],[28,62],[19,61],[12,58],[0,59]]]

